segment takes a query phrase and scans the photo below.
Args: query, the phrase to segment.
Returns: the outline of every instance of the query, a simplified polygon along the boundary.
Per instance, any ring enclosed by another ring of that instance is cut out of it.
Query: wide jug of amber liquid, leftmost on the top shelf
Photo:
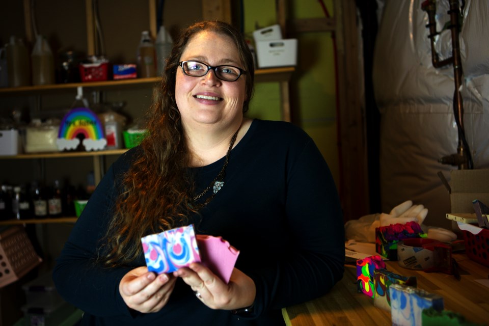
[[[31,61],[24,43],[15,36],[11,36],[6,48],[9,87],[30,85]]]

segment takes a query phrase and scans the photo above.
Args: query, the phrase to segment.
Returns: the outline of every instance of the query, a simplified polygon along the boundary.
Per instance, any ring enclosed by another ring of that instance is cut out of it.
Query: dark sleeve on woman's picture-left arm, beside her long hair
[[[99,239],[105,234],[118,193],[115,180],[113,165],[91,195],[53,270],[61,296],[97,316],[130,315],[119,294],[119,282],[133,267],[109,269],[95,263]]]

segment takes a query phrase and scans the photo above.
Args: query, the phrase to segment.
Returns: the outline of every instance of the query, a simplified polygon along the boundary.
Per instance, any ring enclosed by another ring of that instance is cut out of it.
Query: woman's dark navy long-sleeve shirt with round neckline
[[[343,276],[344,228],[339,198],[327,163],[313,140],[286,122],[254,120],[231,151],[225,185],[193,220],[196,233],[221,236],[240,251],[236,268],[256,285],[251,316],[206,307],[183,281],[156,313],[131,312],[119,293],[130,266],[94,263],[117,180],[135,153],[110,167],[76,222],[53,272],[61,295],[82,309],[83,324],[281,325],[280,309],[327,293]],[[194,168],[197,193],[222,169],[224,158]],[[204,196],[205,197],[205,196]]]

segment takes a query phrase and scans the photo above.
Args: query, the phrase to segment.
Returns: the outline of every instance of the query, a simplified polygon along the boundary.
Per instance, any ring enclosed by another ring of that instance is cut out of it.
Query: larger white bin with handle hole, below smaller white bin
[[[297,39],[258,41],[256,54],[259,68],[295,66]]]

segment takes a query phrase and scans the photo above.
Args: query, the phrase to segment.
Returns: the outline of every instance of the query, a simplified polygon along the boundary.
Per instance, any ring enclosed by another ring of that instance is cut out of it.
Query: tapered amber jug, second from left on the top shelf
[[[32,60],[32,84],[55,84],[55,61],[51,48],[42,35],[36,37],[36,44],[31,55]]]

